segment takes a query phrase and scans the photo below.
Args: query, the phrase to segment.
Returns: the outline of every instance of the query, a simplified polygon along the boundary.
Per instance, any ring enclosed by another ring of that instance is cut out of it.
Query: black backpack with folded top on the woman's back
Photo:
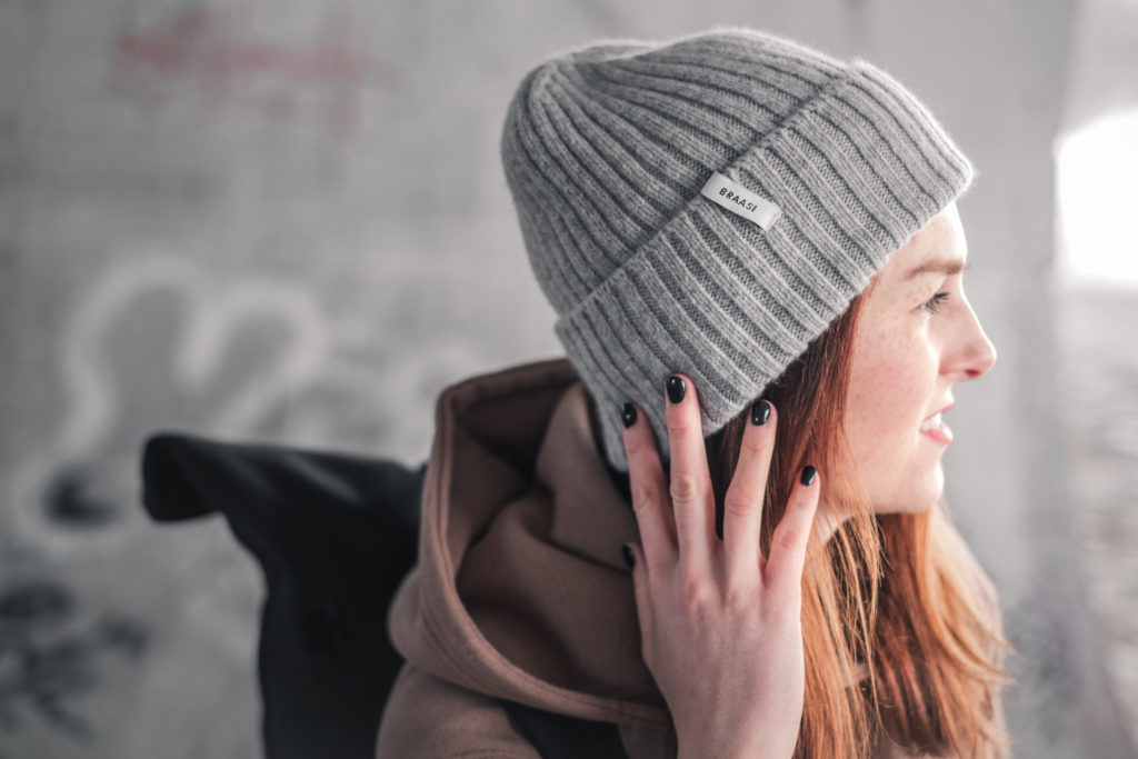
[[[264,571],[266,759],[373,759],[403,665],[387,608],[415,563],[427,464],[164,431],[141,469],[155,521],[221,512]],[[627,757],[616,725],[503,704],[543,757]]]

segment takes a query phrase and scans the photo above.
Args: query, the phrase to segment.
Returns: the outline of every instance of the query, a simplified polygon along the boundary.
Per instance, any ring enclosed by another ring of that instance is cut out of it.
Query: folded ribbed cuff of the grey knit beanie
[[[696,192],[554,325],[620,471],[626,402],[650,420],[662,461],[669,374],[692,378],[703,436],[718,431],[974,176],[932,114],[860,59],[717,171],[781,216],[764,231]]]

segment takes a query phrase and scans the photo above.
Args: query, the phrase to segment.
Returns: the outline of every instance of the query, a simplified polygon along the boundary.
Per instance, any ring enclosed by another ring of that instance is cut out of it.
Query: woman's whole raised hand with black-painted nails
[[[642,653],[679,740],[679,757],[778,757],[794,752],[802,718],[801,578],[819,481],[807,467],[759,550],[777,414],[751,422],[715,530],[700,406],[691,380],[668,380],[667,481],[643,414],[624,431],[643,545],[630,545]],[[675,395],[673,395],[675,394]],[[760,401],[758,419],[766,401]],[[769,404],[767,404],[769,406]],[[632,407],[634,411],[635,406]]]

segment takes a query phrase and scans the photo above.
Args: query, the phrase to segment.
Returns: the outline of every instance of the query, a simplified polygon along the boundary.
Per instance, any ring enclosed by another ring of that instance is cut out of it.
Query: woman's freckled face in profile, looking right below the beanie
[[[865,295],[846,434],[876,513],[917,512],[945,486],[953,386],[988,373],[996,349],[964,297],[956,204],[894,251]]]

